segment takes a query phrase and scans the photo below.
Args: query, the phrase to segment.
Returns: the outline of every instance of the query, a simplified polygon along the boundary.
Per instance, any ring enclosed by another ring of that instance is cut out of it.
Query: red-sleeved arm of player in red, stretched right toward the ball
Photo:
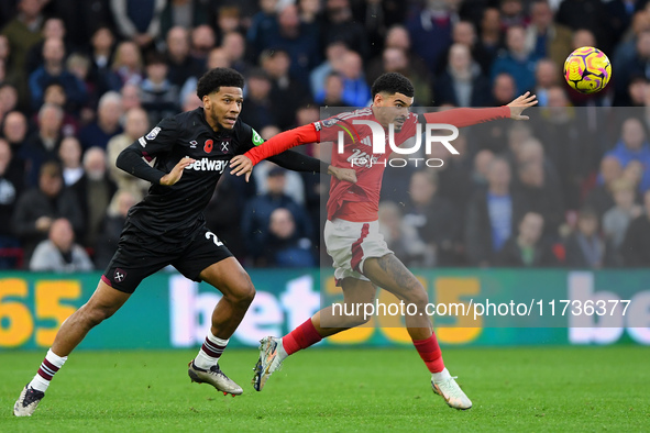
[[[425,113],[423,116],[427,123],[444,123],[456,127],[465,127],[497,119],[528,120],[528,116],[521,115],[521,112],[537,103],[537,96],[526,92],[503,107],[480,109],[458,108],[437,113]]]

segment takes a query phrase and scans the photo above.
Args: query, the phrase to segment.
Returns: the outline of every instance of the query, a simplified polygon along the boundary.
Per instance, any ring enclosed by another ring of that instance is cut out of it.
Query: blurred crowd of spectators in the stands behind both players
[[[562,79],[580,46],[612,60],[599,93]],[[530,90],[530,121],[467,129],[460,155],[423,155],[440,168],[386,169],[389,247],[408,266],[648,266],[649,66],[645,1],[4,0],[0,268],[103,269],[147,189],[118,154],[200,107],[214,67],[245,76],[241,118],[264,138],[320,107],[367,106],[385,71],[414,82],[414,110]],[[271,163],[253,173],[224,176],[208,226],[244,264],[318,266],[328,186]]]

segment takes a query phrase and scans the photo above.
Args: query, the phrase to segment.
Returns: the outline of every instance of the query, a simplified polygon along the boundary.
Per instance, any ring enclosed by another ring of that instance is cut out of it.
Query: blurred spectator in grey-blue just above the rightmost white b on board
[[[577,230],[564,243],[565,265],[570,268],[599,269],[606,264],[607,246],[598,233],[598,214],[583,209]]]

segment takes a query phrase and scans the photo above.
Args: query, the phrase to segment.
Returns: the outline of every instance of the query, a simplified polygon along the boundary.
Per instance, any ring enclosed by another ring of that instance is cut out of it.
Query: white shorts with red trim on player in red
[[[334,260],[332,266],[337,285],[348,277],[370,281],[363,275],[365,259],[384,257],[393,253],[379,233],[378,221],[328,220],[324,227],[324,241],[328,254]]]

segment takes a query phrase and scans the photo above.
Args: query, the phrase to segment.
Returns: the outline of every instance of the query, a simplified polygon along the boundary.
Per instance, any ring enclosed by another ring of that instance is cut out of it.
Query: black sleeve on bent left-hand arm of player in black
[[[159,154],[169,152],[178,136],[178,124],[175,119],[163,119],[161,123],[145,136],[141,136],[120,153],[115,165],[118,168],[152,184],[161,184],[166,173],[151,167],[147,160]]]

